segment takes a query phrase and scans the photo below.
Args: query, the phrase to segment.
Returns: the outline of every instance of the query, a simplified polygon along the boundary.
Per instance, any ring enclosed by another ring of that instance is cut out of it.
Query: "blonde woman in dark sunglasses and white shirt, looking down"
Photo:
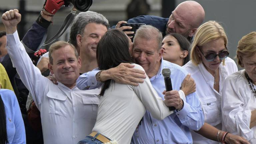
[[[191,61],[184,65],[195,80],[196,93],[205,117],[204,126],[197,131],[201,135],[191,131],[194,144],[234,141],[246,143],[242,137],[221,131],[223,83],[228,75],[237,72],[235,62],[228,57],[227,43],[227,36],[219,23],[208,21],[202,24],[196,31],[191,44]]]

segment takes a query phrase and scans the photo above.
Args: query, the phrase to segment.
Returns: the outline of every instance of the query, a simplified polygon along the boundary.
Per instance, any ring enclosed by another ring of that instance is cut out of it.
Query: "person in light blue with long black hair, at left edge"
[[[26,134],[13,91],[0,89],[0,144],[25,144]]]

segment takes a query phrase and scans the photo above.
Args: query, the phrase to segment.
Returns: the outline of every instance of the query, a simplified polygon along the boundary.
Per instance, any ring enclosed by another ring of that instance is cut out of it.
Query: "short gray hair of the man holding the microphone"
[[[158,49],[159,51],[162,46],[162,40],[163,35],[162,33],[155,27],[151,25],[142,25],[139,29],[136,30],[135,36],[134,36],[134,45],[136,44],[137,38],[143,38],[146,40],[157,40],[158,43]]]

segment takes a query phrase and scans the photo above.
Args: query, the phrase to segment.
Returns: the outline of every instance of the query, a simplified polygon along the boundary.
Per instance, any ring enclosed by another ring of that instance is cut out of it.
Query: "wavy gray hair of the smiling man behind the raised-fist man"
[[[77,47],[76,36],[83,35],[84,28],[89,23],[102,24],[109,28],[108,20],[99,13],[93,11],[80,12],[76,17],[70,29],[69,42]]]

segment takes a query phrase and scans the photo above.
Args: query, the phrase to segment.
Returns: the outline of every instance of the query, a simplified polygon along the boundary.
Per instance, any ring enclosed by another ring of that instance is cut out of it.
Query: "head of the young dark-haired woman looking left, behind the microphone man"
[[[163,59],[183,66],[190,61],[190,42],[178,33],[166,35],[162,41]]]

